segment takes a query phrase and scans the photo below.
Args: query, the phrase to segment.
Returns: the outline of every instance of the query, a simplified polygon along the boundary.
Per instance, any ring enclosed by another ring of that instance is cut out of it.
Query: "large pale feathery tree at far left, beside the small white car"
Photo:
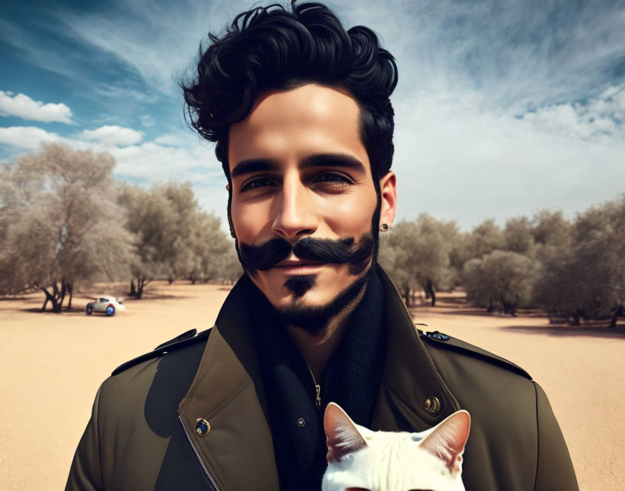
[[[61,312],[77,282],[119,278],[131,236],[114,202],[114,159],[47,144],[0,169],[0,291],[39,289]]]

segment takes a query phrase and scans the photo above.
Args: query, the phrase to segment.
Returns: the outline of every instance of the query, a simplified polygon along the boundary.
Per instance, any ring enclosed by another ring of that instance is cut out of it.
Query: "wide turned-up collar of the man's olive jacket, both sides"
[[[384,288],[387,339],[372,427],[422,431],[458,409],[458,402],[419,339],[395,285],[380,266],[377,274]],[[190,438],[220,490],[279,488],[249,306],[250,280],[243,277],[227,296],[179,405]],[[438,410],[430,412],[434,407]],[[211,425],[205,437],[195,434],[197,418]]]

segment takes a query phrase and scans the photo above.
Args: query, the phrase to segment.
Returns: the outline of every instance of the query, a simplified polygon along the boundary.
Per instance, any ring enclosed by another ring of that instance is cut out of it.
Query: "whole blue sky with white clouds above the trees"
[[[213,146],[183,122],[176,80],[241,0],[4,0],[0,159],[42,142],[110,151],[116,176],[193,183],[224,220]],[[331,1],[399,68],[398,218],[576,212],[625,191],[623,1]]]

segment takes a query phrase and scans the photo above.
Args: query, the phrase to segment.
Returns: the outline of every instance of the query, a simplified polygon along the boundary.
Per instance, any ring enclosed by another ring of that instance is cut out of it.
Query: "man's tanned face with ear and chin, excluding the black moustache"
[[[352,237],[355,249],[371,232],[377,195],[359,137],[359,114],[347,93],[307,84],[260,96],[248,117],[231,126],[230,212],[240,247],[276,238],[293,245],[306,237]],[[394,174],[380,184],[379,221],[390,224]],[[251,276],[274,307],[287,310],[329,305],[363,274],[349,264],[301,259],[291,252]],[[303,276],[312,282],[300,282]]]

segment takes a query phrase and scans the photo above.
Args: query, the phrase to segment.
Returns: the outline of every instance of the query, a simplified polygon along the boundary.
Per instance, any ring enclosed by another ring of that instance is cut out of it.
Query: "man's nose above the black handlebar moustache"
[[[287,241],[296,241],[317,230],[319,220],[312,203],[312,195],[299,176],[285,176],[275,203],[276,218],[271,229],[277,236]]]

